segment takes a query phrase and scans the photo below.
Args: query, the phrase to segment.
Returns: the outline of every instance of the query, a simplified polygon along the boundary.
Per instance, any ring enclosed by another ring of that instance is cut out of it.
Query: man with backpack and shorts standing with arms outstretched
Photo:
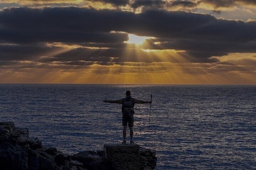
[[[152,103],[151,101],[143,101],[137,100],[130,96],[130,90],[126,91],[126,97],[120,100],[103,100],[104,103],[118,103],[122,104],[122,112],[123,112],[123,142],[122,144],[126,144],[126,129],[127,124],[130,129],[130,144],[134,144],[133,141],[133,114],[134,114],[134,105],[135,103],[143,104],[143,103]]]

